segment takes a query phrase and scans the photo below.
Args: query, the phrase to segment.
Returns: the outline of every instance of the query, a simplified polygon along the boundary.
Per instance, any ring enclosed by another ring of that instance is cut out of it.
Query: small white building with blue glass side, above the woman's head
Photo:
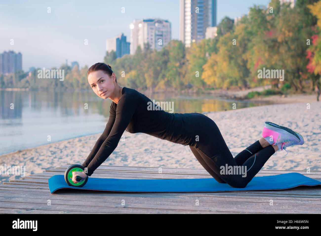
[[[129,47],[130,42],[126,42],[126,36],[124,36],[123,33],[113,39],[106,40],[106,51],[111,52],[114,50],[116,52],[116,58],[129,54]]]

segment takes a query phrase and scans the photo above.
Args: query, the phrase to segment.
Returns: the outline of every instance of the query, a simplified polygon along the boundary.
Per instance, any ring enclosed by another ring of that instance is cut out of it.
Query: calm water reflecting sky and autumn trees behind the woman
[[[215,98],[212,95],[148,94],[152,101],[174,102],[174,113],[204,113],[266,105]],[[88,109],[85,109],[85,103]],[[0,91],[0,155],[53,142],[102,133],[110,99],[94,92]],[[170,112],[169,110],[165,110]],[[48,141],[48,135],[51,140]]]

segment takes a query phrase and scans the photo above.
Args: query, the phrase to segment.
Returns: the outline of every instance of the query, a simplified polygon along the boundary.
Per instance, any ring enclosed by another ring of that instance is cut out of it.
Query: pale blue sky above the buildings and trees
[[[225,16],[234,19],[247,14],[254,4],[266,7],[269,2],[217,0],[217,23]],[[0,53],[21,52],[24,71],[31,66],[59,67],[66,59],[68,65],[78,61],[80,67],[91,66],[103,61],[107,38],[124,33],[129,42],[134,19],[156,17],[171,22],[171,37],[179,39],[179,0],[0,0]]]

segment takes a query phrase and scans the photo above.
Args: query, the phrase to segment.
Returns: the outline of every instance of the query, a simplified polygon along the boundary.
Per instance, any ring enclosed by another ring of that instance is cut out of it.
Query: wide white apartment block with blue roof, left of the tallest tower
[[[151,49],[157,51],[165,47],[171,40],[171,23],[159,18],[136,19],[130,24],[130,54],[134,55],[138,46],[144,49],[149,43]]]

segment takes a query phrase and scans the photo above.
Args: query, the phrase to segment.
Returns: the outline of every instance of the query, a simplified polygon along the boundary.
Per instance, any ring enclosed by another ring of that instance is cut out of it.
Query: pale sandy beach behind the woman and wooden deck
[[[236,108],[206,115],[219,127],[234,157],[262,137],[264,122],[270,121],[298,132],[305,143],[288,147],[287,155],[284,150],[277,151],[265,163],[263,170],[321,170],[320,113],[321,102],[305,97],[304,102]],[[0,156],[0,166],[25,166],[25,176],[28,176],[68,163],[82,164],[100,135],[88,135],[3,154]],[[189,146],[143,133],[131,134],[125,131],[123,135],[125,139],[121,139],[102,165],[203,168]],[[1,184],[20,177],[2,175]]]

